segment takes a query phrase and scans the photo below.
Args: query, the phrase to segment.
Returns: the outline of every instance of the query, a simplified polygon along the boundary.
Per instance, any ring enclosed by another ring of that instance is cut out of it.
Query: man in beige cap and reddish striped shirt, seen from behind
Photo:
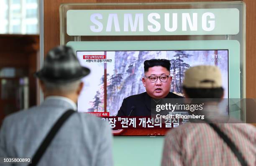
[[[195,66],[185,72],[186,98],[223,98],[216,66]],[[216,102],[216,100],[212,100]],[[218,101],[218,100],[217,100]],[[209,105],[216,105],[209,102]],[[207,103],[205,103],[207,105]],[[215,112],[217,114],[217,112]],[[245,123],[187,123],[165,138],[162,166],[255,166],[256,129]]]

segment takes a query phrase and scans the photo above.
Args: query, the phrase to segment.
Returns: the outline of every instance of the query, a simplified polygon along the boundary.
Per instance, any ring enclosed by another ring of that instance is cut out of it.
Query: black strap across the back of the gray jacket
[[[32,158],[32,162],[28,166],[36,166],[37,163],[40,161],[41,157],[44,155],[46,149],[48,148],[51,141],[54,139],[54,136],[59,131],[63,123],[72,115],[75,111],[74,110],[67,110],[64,112],[63,115],[56,121],[54,126],[51,128],[47,136],[44,138],[43,142],[37,149],[36,153]]]

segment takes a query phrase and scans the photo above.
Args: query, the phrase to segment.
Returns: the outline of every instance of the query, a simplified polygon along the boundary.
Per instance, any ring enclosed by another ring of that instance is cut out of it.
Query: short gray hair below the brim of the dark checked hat
[[[68,83],[53,83],[44,81],[46,91],[59,92],[59,93],[72,93],[79,87],[81,80],[68,82]]]

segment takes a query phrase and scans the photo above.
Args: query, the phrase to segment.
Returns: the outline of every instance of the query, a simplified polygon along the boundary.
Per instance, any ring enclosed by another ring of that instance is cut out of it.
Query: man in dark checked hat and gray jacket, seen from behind
[[[50,50],[43,69],[35,74],[45,101],[5,118],[0,131],[0,156],[29,157],[38,166],[112,166],[109,124],[75,112],[83,87],[80,79],[89,73],[71,48]]]

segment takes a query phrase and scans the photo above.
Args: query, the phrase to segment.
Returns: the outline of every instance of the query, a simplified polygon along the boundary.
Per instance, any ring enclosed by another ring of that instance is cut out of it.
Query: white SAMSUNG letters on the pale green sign
[[[197,27],[201,26],[204,31],[213,31],[215,28],[215,15],[210,12],[198,15],[198,13],[181,13],[181,24],[178,25],[178,13],[150,13],[144,15],[143,13],[136,13],[135,17],[131,13],[123,14],[123,28],[120,28],[120,21],[118,20],[117,13],[108,14],[107,24],[104,26],[101,20],[103,15],[100,13],[94,13],[90,16],[91,23],[90,30],[92,32],[111,32],[112,27],[115,32],[143,32],[144,28],[147,28],[150,32],[159,32],[161,28],[164,28],[167,32],[177,31],[178,26],[182,27],[182,31],[197,31]],[[146,25],[144,25],[144,19],[147,19]],[[164,25],[158,21],[164,18]],[[201,24],[198,25],[198,19],[201,19]]]

